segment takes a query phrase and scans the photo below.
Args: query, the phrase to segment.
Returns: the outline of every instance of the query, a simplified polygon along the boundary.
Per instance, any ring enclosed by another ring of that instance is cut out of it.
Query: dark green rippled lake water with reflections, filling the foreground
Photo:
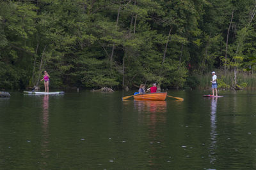
[[[256,169],[256,92],[131,94],[0,98],[0,169]]]

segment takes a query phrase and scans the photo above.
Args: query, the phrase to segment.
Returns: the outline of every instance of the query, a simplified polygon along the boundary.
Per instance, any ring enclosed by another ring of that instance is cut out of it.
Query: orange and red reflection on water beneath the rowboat
[[[165,113],[166,101],[139,101],[134,100],[134,108],[139,112]]]

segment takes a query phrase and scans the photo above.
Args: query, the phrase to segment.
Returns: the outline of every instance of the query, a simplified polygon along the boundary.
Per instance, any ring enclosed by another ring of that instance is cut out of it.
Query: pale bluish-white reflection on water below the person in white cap
[[[210,163],[214,164],[214,162],[216,161],[216,157],[215,155],[215,149],[216,149],[216,136],[218,135],[216,132],[216,128],[217,128],[217,120],[216,120],[216,112],[217,112],[217,101],[218,101],[218,97],[212,97],[211,98],[211,132],[210,132],[210,136],[211,136],[211,143],[209,146],[210,149]]]

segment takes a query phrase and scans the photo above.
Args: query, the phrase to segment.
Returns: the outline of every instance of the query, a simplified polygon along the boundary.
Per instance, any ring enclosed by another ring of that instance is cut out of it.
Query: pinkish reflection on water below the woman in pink
[[[43,114],[42,114],[42,158],[47,159],[49,157],[48,143],[49,143],[49,95],[43,97],[42,102]],[[42,164],[47,164],[42,162]]]

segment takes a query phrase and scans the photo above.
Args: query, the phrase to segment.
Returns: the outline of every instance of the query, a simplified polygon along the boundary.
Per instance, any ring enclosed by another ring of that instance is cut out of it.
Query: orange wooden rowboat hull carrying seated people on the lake
[[[136,100],[147,100],[147,101],[164,101],[166,99],[167,92],[138,94],[133,96]]]

